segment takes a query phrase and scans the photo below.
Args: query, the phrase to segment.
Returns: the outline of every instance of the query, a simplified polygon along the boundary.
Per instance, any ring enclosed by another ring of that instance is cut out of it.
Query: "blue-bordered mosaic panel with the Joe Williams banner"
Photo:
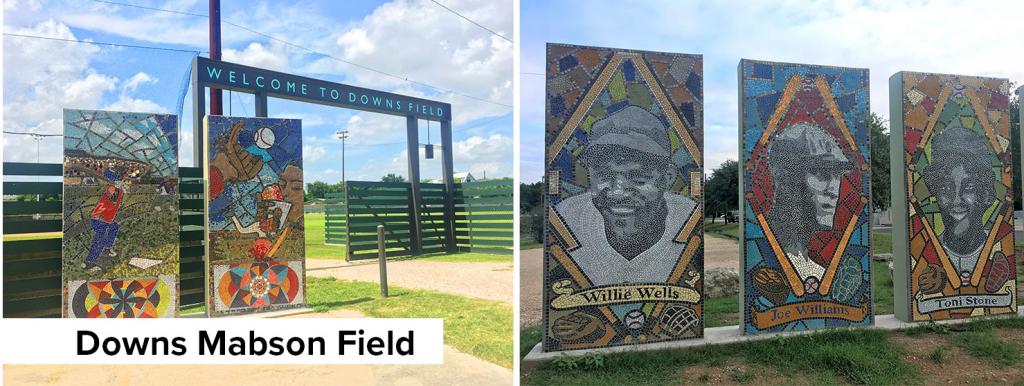
[[[744,334],[872,323],[867,84],[739,63]]]

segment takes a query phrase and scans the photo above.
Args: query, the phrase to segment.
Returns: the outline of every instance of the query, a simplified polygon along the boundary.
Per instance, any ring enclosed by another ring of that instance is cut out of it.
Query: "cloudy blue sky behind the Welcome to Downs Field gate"
[[[123,3],[207,13],[201,0],[124,0]],[[445,6],[511,37],[511,1],[444,0]],[[109,47],[4,36],[4,130],[59,133],[60,110],[177,112],[180,163],[193,165],[191,91],[183,89],[194,52],[208,56],[207,19],[102,1],[5,1],[7,34],[156,46],[182,51]],[[513,46],[427,0],[297,2],[221,1],[223,59],[292,74],[452,103],[455,170],[511,177]],[[237,24],[265,35],[231,26]],[[287,41],[385,76],[311,53]],[[411,81],[436,86],[431,88]],[[471,95],[472,97],[464,96]],[[224,92],[224,113],[251,116],[248,94]],[[484,99],[481,101],[477,99]],[[230,100],[230,103],[228,103]],[[373,113],[270,99],[270,117],[302,119],[305,179],[341,179],[339,129],[350,132],[347,177],[378,180],[406,175],[406,120]],[[439,126],[430,123],[430,140]],[[421,142],[427,123],[420,121]],[[3,160],[56,163],[60,140],[3,136]],[[421,148],[422,157],[422,148]],[[422,176],[439,178],[439,158],[421,159]]]

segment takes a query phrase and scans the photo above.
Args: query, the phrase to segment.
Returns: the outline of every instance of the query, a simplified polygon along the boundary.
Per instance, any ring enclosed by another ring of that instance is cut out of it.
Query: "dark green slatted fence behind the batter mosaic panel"
[[[10,177],[60,177],[60,164],[3,164],[4,195],[49,195],[56,201],[3,202],[3,317],[59,317],[61,182],[16,182]],[[203,173],[178,169],[182,306],[204,302]],[[50,178],[52,179],[52,178]],[[41,233],[29,235],[27,233]],[[6,235],[32,240],[7,241]]]

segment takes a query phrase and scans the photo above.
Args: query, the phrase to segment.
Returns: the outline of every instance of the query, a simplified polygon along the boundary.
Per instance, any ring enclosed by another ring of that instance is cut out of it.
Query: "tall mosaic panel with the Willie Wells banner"
[[[703,335],[701,57],[548,45],[544,349]]]

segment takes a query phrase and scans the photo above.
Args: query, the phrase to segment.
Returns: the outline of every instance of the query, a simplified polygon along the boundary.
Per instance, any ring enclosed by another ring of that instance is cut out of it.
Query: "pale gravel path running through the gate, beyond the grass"
[[[380,283],[376,262],[349,264],[306,260],[306,274],[347,281]],[[512,305],[512,263],[455,263],[427,260],[388,261],[388,285],[433,290]]]

